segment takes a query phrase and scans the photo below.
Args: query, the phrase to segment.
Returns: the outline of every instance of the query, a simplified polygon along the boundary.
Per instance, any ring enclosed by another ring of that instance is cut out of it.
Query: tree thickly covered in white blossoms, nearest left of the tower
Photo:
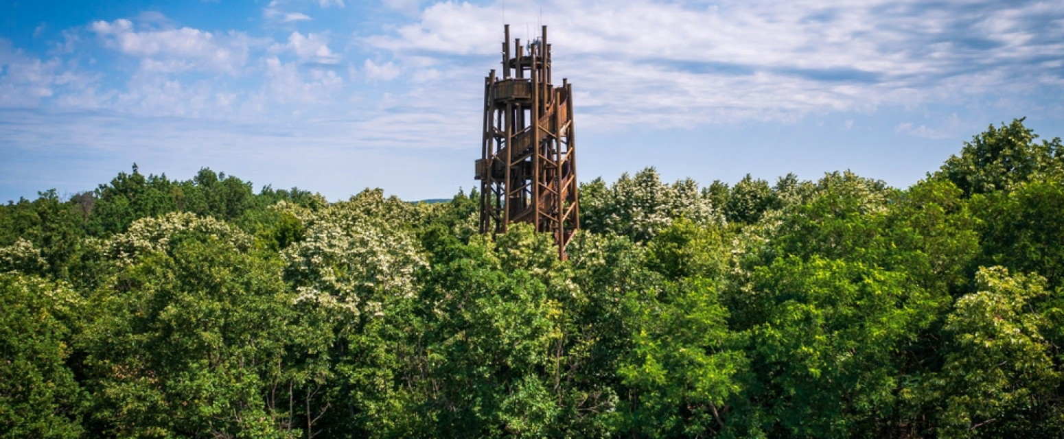
[[[275,231],[298,232],[280,257],[299,326],[314,328],[302,333],[313,349],[292,358],[311,379],[301,394],[316,419],[307,430],[378,437],[418,430],[423,423],[412,415],[412,401],[423,395],[404,388],[415,379],[410,364],[420,361],[410,344],[421,331],[415,299],[418,274],[428,269],[414,235],[420,207],[366,190],[317,210],[287,202],[273,208],[292,218]]]

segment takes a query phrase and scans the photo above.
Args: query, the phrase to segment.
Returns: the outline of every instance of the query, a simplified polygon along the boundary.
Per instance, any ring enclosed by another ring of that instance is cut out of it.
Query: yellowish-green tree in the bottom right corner
[[[949,350],[919,398],[935,413],[941,437],[1053,437],[1064,428],[1062,374],[1044,336],[1046,317],[1033,301],[1046,296],[1044,280],[981,268],[978,291],[957,301],[946,319]]]

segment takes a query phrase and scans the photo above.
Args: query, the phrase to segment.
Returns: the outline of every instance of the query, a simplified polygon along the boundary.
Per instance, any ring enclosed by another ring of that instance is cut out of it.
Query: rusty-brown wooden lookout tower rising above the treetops
[[[528,222],[554,236],[564,259],[580,227],[572,84],[552,85],[546,26],[525,47],[520,38],[511,41],[509,24],[504,34],[502,78],[492,70],[484,80],[480,232]]]

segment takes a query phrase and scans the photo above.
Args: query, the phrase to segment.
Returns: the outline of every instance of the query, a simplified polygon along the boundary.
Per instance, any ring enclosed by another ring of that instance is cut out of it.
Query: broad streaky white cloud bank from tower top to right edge
[[[512,36],[538,33],[541,4],[554,74],[575,83],[584,123],[794,120],[1030,92],[1064,77],[1030,68],[1064,57],[1062,36],[1032,26],[1051,27],[1064,4],[510,0]],[[436,69],[486,72],[498,64],[502,6],[436,2],[417,22],[361,41],[401,64],[428,57]]]

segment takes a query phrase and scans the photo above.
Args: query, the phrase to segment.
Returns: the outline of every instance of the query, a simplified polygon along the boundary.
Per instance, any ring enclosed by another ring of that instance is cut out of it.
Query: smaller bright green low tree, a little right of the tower
[[[704,437],[728,427],[729,404],[747,372],[744,337],[729,331],[715,288],[692,278],[641,306],[633,348],[619,368],[633,398],[624,427],[648,437]]]

